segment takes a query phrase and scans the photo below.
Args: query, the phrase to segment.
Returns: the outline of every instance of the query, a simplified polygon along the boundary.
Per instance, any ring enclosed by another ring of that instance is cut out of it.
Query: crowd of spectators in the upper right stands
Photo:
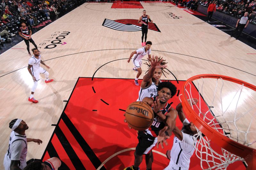
[[[199,4],[208,6],[212,1],[200,0]],[[249,13],[250,22],[256,24],[256,1],[253,0],[216,0],[216,10],[225,14],[241,18],[245,12]]]

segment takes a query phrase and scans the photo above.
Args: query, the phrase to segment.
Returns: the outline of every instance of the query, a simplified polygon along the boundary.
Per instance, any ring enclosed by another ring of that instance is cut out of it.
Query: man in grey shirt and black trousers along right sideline
[[[231,37],[235,37],[235,34],[237,34],[237,36],[235,37],[236,40],[238,39],[238,37],[240,36],[240,34],[242,33],[243,29],[247,27],[249,21],[251,18],[248,17],[248,12],[244,13],[244,16],[239,18],[236,22],[236,29],[235,31],[231,34]]]

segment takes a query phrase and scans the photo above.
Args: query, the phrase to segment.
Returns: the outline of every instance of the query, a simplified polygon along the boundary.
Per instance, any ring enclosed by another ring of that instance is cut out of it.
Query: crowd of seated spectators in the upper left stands
[[[0,44],[18,33],[20,21],[30,27],[56,20],[86,0],[0,0]]]

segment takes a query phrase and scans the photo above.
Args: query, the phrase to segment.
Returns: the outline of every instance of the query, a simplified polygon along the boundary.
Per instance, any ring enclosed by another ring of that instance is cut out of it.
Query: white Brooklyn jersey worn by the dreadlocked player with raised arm
[[[161,83],[161,80],[159,80],[159,83]],[[155,97],[157,95],[157,86],[153,81],[152,84],[149,85],[146,88],[141,88],[139,91],[139,98],[137,101],[142,101],[145,97]]]

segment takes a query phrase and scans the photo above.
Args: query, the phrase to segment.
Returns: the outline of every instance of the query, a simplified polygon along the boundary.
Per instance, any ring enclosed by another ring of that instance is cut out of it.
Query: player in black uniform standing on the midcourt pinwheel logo
[[[142,37],[141,37],[141,46],[146,46],[147,41],[147,34],[148,34],[148,21],[153,22],[153,20],[150,19],[149,15],[146,15],[146,10],[143,10],[143,15],[140,16],[138,23],[141,24],[141,31],[142,31]],[[143,38],[145,34],[145,41],[143,43]]]

